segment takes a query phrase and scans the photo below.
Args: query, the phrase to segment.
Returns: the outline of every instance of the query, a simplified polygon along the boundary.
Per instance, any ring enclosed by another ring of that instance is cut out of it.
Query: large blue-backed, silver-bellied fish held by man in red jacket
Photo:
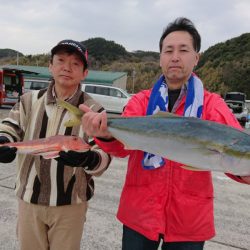
[[[65,102],[60,105],[70,112],[77,109]],[[250,135],[226,125],[160,112],[110,117],[108,129],[128,149],[160,155],[192,170],[250,175]]]

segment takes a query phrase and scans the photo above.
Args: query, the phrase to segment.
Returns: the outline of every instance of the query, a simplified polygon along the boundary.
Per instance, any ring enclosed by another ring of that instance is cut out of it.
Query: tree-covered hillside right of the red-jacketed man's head
[[[210,47],[196,72],[211,91],[241,91],[250,98],[250,33]]]

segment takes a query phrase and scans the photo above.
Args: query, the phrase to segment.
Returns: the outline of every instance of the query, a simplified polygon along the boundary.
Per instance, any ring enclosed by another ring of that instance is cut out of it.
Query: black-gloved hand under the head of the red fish
[[[92,170],[99,162],[99,154],[91,150],[86,152],[61,151],[55,160],[70,167],[83,167],[86,170]]]

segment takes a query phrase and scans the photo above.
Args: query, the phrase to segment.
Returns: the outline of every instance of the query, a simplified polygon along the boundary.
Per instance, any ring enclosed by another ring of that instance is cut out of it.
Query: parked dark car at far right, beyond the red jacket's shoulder
[[[241,92],[228,92],[225,95],[225,102],[232,110],[240,124],[245,127],[248,121],[248,108],[246,105],[246,94]]]

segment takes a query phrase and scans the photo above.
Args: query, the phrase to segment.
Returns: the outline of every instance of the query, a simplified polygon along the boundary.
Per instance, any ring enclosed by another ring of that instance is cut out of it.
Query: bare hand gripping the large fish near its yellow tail
[[[94,112],[84,104],[81,104],[79,108],[85,113],[82,117],[82,128],[88,136],[100,137],[108,140],[113,138],[108,131],[106,112]]]

